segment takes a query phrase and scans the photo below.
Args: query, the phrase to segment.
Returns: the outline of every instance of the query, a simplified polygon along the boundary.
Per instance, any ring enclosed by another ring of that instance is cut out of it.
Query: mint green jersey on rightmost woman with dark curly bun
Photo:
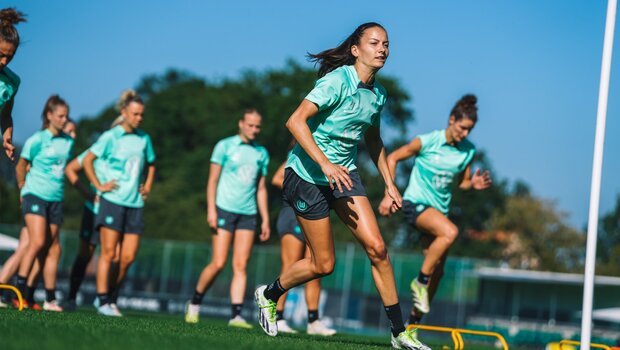
[[[448,215],[452,200],[452,181],[463,172],[476,153],[474,144],[465,139],[455,146],[446,142],[446,130],[418,136],[420,154],[409,178],[403,199],[429,205]]]

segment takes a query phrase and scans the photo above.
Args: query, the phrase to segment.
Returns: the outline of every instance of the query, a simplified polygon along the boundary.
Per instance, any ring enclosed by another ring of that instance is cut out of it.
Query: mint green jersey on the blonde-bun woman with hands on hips
[[[140,129],[128,133],[121,125],[117,125],[101,134],[90,147],[90,152],[105,162],[101,167],[102,177],[106,181],[116,180],[118,186],[101,196],[116,205],[144,207],[144,200],[139,192],[140,182],[145,166],[155,162],[155,152],[149,135]],[[97,179],[103,183],[99,173]]]

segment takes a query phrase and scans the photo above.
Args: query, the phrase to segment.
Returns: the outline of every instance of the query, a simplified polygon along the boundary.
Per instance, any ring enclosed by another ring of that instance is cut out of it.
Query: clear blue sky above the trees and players
[[[479,97],[471,136],[495,176],[527,182],[582,227],[587,220],[605,1],[3,1],[28,14],[10,67],[22,77],[15,139],[39,127],[60,93],[95,115],[145,74],[205,78],[281,67],[333,47],[363,22],[388,30],[383,72],[412,95],[414,136],[446,125],[464,93]],[[601,211],[620,194],[618,63],[612,66]],[[207,141],[208,142],[208,141]],[[213,140],[215,142],[215,140]],[[205,160],[206,161],[206,160]]]

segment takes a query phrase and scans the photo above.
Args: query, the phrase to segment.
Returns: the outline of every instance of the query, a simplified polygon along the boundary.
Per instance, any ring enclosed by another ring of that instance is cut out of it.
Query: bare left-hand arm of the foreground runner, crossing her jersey
[[[317,146],[316,142],[314,142],[312,132],[310,132],[307,122],[308,119],[316,115],[318,111],[319,109],[314,103],[303,100],[286,122],[286,127],[291,134],[293,134],[293,137],[297,140],[301,148],[303,148],[308,156],[321,167],[321,171],[327,177],[329,186],[332,189],[334,189],[335,186],[342,192],[342,186],[344,186],[350,190],[353,186],[353,182],[349,177],[349,170],[344,166],[332,164],[319,146]]]

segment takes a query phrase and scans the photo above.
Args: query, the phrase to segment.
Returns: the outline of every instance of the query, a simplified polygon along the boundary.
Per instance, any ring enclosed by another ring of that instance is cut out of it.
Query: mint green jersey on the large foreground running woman
[[[363,84],[353,66],[342,66],[317,80],[306,100],[319,112],[308,120],[314,142],[327,159],[351,170],[357,167],[357,144],[370,126],[378,127],[387,93],[379,82]],[[299,144],[288,157],[291,168],[307,182],[327,186],[321,168]]]

